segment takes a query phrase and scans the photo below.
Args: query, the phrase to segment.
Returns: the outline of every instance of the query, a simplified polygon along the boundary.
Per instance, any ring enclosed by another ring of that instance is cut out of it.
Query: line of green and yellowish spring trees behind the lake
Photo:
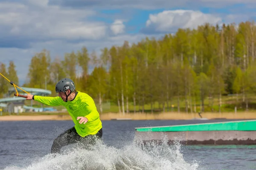
[[[206,99],[212,111],[217,100],[217,111],[221,112],[222,97],[227,94],[236,95],[237,101],[242,96],[248,109],[248,95],[256,90],[255,41],[256,26],[247,21],[180,28],[158,40],[145,37],[132,44],[124,41],[120,46],[102,49],[100,54],[89,54],[83,47],[66,53],[63,60],[51,60],[49,51],[43,50],[32,57],[28,81],[23,86],[47,88],[55,96],[55,83],[69,77],[77,90],[99,103],[100,112],[106,100],[116,103],[120,113],[135,112],[138,105],[142,112],[145,105],[154,112],[156,102],[162,111],[175,102],[177,111],[186,113],[198,112],[200,103],[204,112]],[[90,74],[89,67],[94,68]],[[7,73],[2,63],[0,71],[18,81],[14,68],[10,62]],[[4,94],[6,83],[0,80],[0,93]],[[184,108],[180,108],[181,102],[185,102]]]

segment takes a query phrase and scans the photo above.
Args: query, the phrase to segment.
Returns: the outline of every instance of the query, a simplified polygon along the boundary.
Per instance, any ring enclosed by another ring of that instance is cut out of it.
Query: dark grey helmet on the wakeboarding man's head
[[[59,82],[57,82],[55,86],[55,91],[56,92],[66,92],[68,89],[70,89],[71,92],[75,90],[75,84],[72,81],[72,79],[61,79]]]

